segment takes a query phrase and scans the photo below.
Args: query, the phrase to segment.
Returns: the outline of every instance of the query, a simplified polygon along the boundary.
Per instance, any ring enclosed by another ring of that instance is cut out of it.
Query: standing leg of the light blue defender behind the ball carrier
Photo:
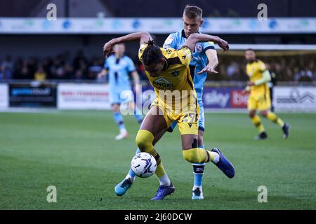
[[[202,99],[199,99],[199,130],[197,133],[197,146],[199,148],[204,148],[203,141],[204,134],[204,106],[202,103]],[[193,163],[193,176],[195,178],[194,185],[192,188],[192,200],[203,200],[203,190],[202,190],[202,182],[204,175],[204,167],[205,163]]]

